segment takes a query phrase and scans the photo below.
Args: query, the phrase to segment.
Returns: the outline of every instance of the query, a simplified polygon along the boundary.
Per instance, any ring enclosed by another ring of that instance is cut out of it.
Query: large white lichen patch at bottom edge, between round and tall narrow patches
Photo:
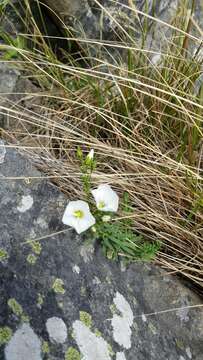
[[[82,321],[73,323],[73,336],[83,360],[111,360],[108,343],[96,336]]]

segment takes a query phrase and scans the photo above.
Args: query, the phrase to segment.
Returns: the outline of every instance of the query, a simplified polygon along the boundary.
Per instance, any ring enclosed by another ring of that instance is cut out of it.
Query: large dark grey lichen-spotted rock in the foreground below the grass
[[[0,359],[201,360],[203,311],[189,308],[201,299],[156,266],[125,269],[87,246],[61,222],[64,195],[4,150]],[[22,212],[24,197],[32,201]]]

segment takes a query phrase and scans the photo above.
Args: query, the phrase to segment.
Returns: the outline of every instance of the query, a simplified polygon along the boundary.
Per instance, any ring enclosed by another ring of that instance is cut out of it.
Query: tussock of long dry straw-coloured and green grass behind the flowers
[[[161,241],[156,262],[202,287],[202,30],[186,2],[170,24],[131,8],[163,31],[162,51],[147,47],[146,26],[139,42],[111,14],[115,42],[76,37],[63,24],[78,44],[75,53],[63,50],[63,62],[25,3],[32,31],[18,39],[31,49],[9,41],[0,48],[37,88],[1,106],[11,124],[3,136],[71,199],[83,196],[76,150],[94,148],[95,186],[128,192],[135,232]]]

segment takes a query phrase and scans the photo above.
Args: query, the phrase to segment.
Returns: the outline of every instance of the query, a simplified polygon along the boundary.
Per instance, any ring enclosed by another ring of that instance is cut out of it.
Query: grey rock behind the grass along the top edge
[[[183,6],[178,0],[147,2],[145,0],[59,0],[57,3],[55,0],[43,0],[43,2],[63,20],[65,25],[71,25],[76,34],[82,38],[119,40],[126,32],[127,38],[125,38],[128,42],[130,36],[138,40],[142,39],[147,23],[149,29],[147,43],[153,48],[157,46],[160,48],[163,45],[168,29],[163,25],[153,28],[151,25],[156,23],[142,13],[137,13],[136,10],[170,23],[178,6]],[[188,1],[187,6],[191,9],[192,1]],[[194,13],[199,25],[202,24],[203,7],[200,0],[195,2]]]

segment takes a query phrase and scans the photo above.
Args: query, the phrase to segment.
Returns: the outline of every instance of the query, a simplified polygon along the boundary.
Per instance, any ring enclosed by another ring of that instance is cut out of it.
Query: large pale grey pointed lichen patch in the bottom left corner
[[[41,341],[29,324],[23,324],[5,348],[6,360],[42,360]]]

